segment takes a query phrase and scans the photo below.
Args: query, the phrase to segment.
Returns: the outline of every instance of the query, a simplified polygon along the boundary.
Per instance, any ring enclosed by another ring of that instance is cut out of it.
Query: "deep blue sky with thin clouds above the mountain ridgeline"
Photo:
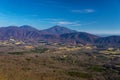
[[[120,0],[0,0],[0,26],[10,25],[120,34]]]

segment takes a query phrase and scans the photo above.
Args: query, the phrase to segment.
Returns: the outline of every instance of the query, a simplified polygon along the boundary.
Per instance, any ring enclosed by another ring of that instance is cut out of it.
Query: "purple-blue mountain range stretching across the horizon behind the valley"
[[[89,44],[98,47],[120,47],[120,36],[100,37],[58,25],[45,30],[38,30],[28,25],[1,27],[0,40],[9,40],[10,38],[25,42],[44,40],[68,45]]]

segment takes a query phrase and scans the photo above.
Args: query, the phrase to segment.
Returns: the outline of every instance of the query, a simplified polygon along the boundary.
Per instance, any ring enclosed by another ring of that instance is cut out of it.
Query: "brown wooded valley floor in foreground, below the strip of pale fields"
[[[102,54],[96,50],[84,49],[66,51],[47,48],[0,52],[0,80],[119,79],[119,54]]]

